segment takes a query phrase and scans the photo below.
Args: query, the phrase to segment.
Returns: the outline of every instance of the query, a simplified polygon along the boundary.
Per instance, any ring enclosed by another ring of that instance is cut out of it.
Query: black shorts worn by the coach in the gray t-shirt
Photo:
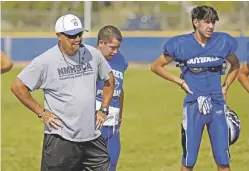
[[[59,135],[44,135],[41,171],[108,171],[110,159],[102,136],[71,142]]]

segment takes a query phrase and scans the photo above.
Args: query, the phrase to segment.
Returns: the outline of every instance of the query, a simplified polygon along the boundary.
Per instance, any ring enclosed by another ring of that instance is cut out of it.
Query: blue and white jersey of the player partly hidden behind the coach
[[[123,88],[124,72],[128,67],[128,63],[126,62],[124,56],[120,52],[118,52],[115,56],[113,56],[112,59],[107,61],[111,66],[113,75],[115,77],[115,89],[110,106],[120,108],[119,96]],[[100,102],[102,101],[103,87],[104,87],[104,82],[98,81],[96,99]]]

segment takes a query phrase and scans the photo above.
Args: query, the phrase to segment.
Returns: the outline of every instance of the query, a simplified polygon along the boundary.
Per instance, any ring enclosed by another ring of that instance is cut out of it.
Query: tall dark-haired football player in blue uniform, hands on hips
[[[219,20],[210,6],[198,6],[191,12],[194,32],[171,38],[163,47],[151,70],[162,78],[179,85],[186,92],[183,105],[182,166],[191,171],[196,163],[204,126],[207,126],[213,156],[219,171],[230,171],[229,128],[226,121],[226,94],[239,71],[235,55],[238,43],[227,33],[214,32]],[[174,76],[164,67],[178,62],[181,77]],[[231,66],[225,74],[226,61]]]

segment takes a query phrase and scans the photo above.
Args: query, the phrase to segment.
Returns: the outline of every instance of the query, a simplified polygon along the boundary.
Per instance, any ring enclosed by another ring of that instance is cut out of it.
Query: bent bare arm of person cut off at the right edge
[[[245,61],[239,71],[238,80],[240,84],[247,90],[249,93],[249,56],[247,57],[247,61]]]

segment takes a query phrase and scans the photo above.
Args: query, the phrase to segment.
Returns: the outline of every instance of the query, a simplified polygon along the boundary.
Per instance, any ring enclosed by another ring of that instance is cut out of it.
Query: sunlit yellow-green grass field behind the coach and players
[[[10,91],[20,72],[2,75],[2,171],[40,169],[43,124]],[[172,71],[179,75],[178,71]],[[119,171],[177,171],[181,164],[180,123],[184,92],[149,69],[130,68],[125,76],[125,109],[121,129]],[[33,93],[43,104],[41,91]],[[235,81],[228,105],[242,121],[239,141],[231,146],[231,169],[249,170],[249,94]],[[195,171],[215,171],[216,165],[204,130]]]

